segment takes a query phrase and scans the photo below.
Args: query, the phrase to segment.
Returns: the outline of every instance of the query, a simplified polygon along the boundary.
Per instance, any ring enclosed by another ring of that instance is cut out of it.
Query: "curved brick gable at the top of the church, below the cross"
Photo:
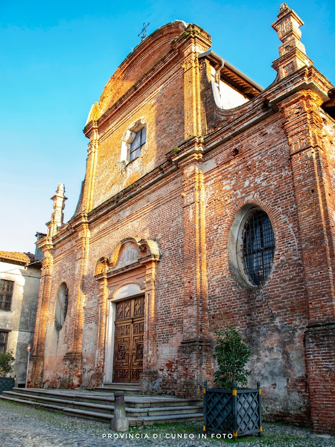
[[[98,119],[129,88],[171,50],[171,42],[180,36],[187,24],[175,21],[158,28],[141,42],[117,68],[106,84],[99,103],[94,103],[87,122]]]

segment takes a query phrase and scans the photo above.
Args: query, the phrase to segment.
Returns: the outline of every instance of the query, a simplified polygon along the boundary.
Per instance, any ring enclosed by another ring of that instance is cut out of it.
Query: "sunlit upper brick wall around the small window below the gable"
[[[101,133],[93,208],[164,163],[165,154],[183,141],[182,72],[175,66],[170,68],[162,84],[152,85],[145,96],[127,104],[122,115]],[[147,141],[140,156],[124,168],[120,161],[121,140],[140,118],[147,125]]]

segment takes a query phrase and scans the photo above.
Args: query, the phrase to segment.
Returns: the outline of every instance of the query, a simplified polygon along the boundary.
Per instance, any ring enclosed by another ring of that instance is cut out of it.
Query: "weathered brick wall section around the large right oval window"
[[[208,156],[208,166],[215,166],[205,173],[209,321],[212,337],[215,329],[230,324],[250,340],[249,382],[255,386],[260,381],[265,410],[276,414],[280,407],[283,415],[306,420],[303,336],[308,311],[282,120],[277,113]],[[246,204],[267,212],[276,241],[270,277],[256,290],[233,272],[229,256],[231,226]]]

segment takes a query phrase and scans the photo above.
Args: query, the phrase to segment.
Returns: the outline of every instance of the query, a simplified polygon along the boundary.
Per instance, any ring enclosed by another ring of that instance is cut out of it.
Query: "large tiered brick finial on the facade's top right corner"
[[[290,9],[286,3],[281,3],[278,20],[272,24],[272,28],[277,31],[282,44],[279,46],[279,58],[274,61],[273,68],[278,72],[279,78],[294,73],[300,68],[313,65],[313,62],[306,56],[305,46],[300,42],[300,27],[304,25],[301,18]]]

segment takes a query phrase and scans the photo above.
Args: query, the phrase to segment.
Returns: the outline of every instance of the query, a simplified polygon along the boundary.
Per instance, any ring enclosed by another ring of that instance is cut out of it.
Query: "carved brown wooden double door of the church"
[[[144,296],[115,309],[113,382],[139,382],[143,370]]]

